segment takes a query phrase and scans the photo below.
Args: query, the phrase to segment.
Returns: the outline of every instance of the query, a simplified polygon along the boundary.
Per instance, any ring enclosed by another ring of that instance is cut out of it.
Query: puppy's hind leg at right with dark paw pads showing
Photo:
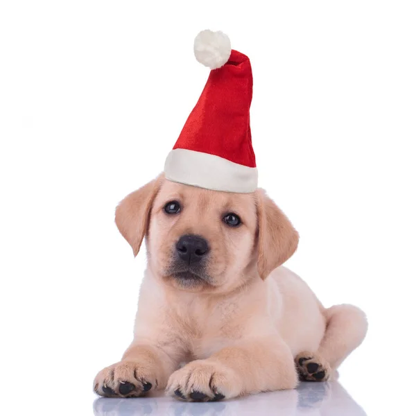
[[[325,381],[340,363],[363,342],[367,319],[361,309],[352,305],[336,305],[323,311],[327,329],[317,352],[302,352],[296,357],[303,379]]]

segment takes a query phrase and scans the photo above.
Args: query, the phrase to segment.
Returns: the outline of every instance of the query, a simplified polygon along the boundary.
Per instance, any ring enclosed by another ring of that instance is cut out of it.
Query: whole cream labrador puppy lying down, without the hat
[[[148,268],[134,339],[97,374],[98,395],[166,388],[213,401],[291,389],[333,377],[365,337],[360,309],[325,309],[281,266],[299,237],[261,189],[211,191],[160,175],[119,204],[116,225],[135,255],[146,237]]]

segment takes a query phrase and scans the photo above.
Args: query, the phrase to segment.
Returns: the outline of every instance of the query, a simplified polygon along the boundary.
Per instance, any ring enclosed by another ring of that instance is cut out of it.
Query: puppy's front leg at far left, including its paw
[[[96,375],[94,391],[105,397],[140,397],[150,390],[164,388],[178,361],[171,347],[159,341],[133,341],[119,363]]]

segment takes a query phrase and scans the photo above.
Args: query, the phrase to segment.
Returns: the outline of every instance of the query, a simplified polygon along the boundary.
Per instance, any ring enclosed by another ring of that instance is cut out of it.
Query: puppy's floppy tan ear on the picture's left
[[[126,196],[116,207],[116,225],[132,246],[135,257],[146,235],[153,200],[162,183],[162,175]]]

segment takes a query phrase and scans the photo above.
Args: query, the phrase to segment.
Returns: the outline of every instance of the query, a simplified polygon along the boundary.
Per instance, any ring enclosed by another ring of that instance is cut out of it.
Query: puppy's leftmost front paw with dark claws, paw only
[[[96,375],[94,391],[105,397],[140,397],[157,388],[155,376],[134,361],[120,361]]]

